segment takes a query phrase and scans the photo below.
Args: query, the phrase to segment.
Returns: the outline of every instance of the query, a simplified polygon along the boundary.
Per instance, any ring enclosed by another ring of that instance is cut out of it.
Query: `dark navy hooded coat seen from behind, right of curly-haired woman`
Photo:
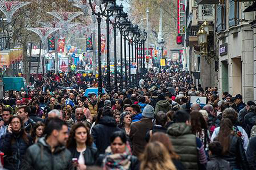
[[[105,149],[111,144],[111,134],[120,130],[117,127],[116,120],[109,116],[101,118],[100,122],[91,129],[91,136],[94,139],[99,154],[104,154]]]

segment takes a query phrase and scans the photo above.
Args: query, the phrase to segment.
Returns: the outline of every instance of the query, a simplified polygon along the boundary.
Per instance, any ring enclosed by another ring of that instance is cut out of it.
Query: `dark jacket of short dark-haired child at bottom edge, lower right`
[[[207,170],[231,170],[228,161],[222,158],[212,156],[207,162]]]

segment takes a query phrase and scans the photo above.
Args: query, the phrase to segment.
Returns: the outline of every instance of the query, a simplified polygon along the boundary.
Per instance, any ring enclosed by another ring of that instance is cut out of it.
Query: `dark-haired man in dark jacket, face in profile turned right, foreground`
[[[73,170],[71,153],[65,148],[68,125],[60,118],[50,118],[44,131],[46,137],[27,149],[23,170]]]

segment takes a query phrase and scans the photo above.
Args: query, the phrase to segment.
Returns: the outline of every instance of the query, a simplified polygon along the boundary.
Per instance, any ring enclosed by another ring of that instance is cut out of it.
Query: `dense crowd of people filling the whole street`
[[[84,96],[97,81],[31,77],[0,103],[7,170],[249,170],[256,167],[256,104],[195,87],[178,63],[149,69],[140,87]],[[76,88],[63,89],[65,83]],[[167,87],[175,88],[173,93]],[[204,106],[191,96],[205,96]]]

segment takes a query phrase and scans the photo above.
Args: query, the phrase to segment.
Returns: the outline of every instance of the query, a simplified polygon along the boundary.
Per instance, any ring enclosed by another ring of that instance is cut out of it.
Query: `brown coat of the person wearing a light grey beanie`
[[[133,147],[132,154],[139,156],[147,144],[146,133],[152,129],[153,122],[149,118],[142,118],[140,121],[131,123],[130,139]]]

